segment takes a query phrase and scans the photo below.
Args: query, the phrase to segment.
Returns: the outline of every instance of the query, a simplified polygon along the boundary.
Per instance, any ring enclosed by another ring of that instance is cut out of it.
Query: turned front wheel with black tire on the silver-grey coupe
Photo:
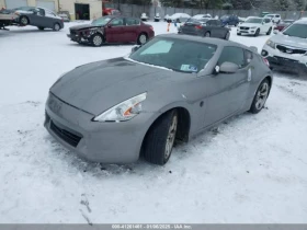
[[[164,165],[172,152],[178,128],[178,113],[170,111],[159,117],[150,127],[144,141],[146,161]]]

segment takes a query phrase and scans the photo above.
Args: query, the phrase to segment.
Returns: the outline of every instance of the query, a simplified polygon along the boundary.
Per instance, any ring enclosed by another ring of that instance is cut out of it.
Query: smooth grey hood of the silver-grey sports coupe
[[[77,67],[60,78],[50,92],[75,107],[99,115],[135,95],[186,79],[186,73],[115,58]]]

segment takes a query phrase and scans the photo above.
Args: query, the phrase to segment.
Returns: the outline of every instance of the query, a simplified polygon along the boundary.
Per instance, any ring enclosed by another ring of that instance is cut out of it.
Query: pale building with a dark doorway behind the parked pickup
[[[68,11],[71,20],[92,20],[102,16],[101,0],[0,0],[0,8],[41,7],[54,12]]]

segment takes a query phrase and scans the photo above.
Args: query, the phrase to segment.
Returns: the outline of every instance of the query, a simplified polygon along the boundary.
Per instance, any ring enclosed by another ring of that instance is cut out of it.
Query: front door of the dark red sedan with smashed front
[[[109,22],[105,28],[105,36],[107,43],[125,43],[126,37],[124,31],[124,18],[115,18]]]

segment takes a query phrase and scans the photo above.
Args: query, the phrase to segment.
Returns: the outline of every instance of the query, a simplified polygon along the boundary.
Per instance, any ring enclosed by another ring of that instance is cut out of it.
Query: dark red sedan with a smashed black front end
[[[125,16],[102,16],[91,24],[77,25],[69,28],[67,36],[79,44],[88,43],[101,46],[104,43],[137,43],[145,44],[155,36],[154,27],[139,19]]]

